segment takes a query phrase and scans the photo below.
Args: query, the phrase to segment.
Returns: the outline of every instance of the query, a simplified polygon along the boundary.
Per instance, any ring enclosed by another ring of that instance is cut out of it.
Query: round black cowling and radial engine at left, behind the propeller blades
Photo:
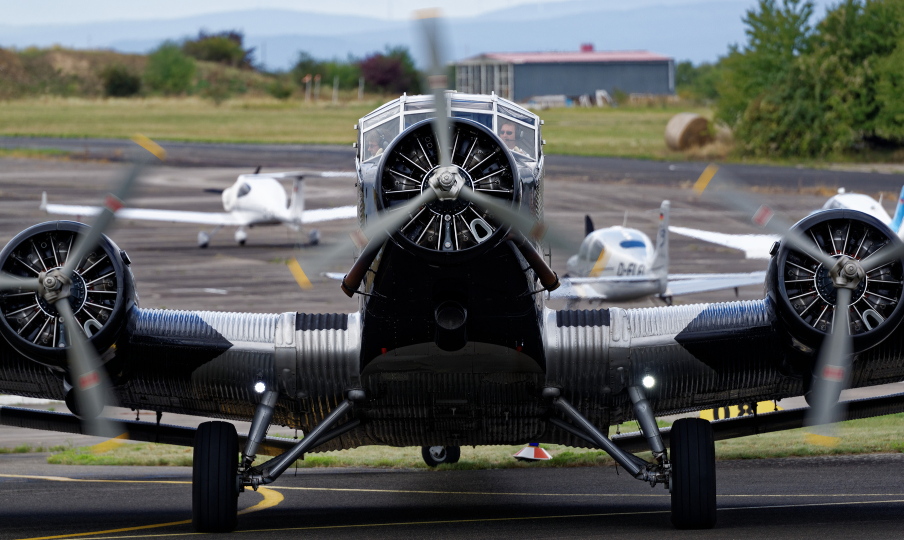
[[[75,221],[48,221],[27,228],[0,251],[0,268],[24,277],[59,268],[77,237],[87,229],[87,225]],[[69,297],[72,312],[100,355],[116,342],[127,311],[137,303],[135,278],[128,264],[125,252],[103,236],[73,275]],[[64,368],[64,326],[53,305],[38,293],[0,292],[0,334],[24,356]]]

